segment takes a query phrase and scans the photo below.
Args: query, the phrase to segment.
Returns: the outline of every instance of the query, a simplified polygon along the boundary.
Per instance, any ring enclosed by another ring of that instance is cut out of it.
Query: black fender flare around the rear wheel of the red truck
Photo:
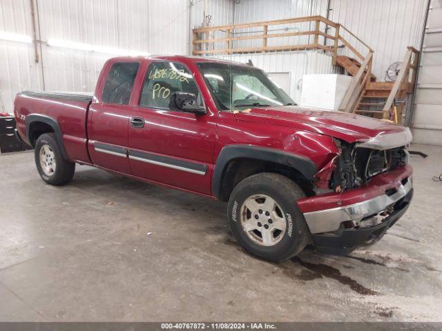
[[[68,160],[68,153],[64,148],[63,134],[58,121],[41,114],[29,114],[26,117],[26,137],[28,137],[30,146],[35,147],[35,143],[41,134],[52,132],[55,134],[55,139],[57,139],[57,143],[60,146],[63,158]]]

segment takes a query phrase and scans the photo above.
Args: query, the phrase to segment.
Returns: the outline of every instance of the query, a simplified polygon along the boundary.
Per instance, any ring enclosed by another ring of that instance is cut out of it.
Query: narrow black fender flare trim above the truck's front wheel
[[[259,161],[270,161],[280,163],[294,168],[308,180],[313,180],[316,174],[316,164],[298,154],[251,145],[229,145],[222,148],[215,163],[212,177],[212,192],[217,199],[220,199],[223,174],[227,164],[233,159],[255,159]]]

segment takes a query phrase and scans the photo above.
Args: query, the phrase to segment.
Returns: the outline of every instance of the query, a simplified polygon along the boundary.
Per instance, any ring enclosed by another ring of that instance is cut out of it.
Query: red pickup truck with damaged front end
[[[110,59],[93,95],[21,92],[15,117],[47,183],[80,163],[228,201],[238,242],[271,261],[307,244],[347,254],[412,199],[409,129],[301,108],[242,63]]]

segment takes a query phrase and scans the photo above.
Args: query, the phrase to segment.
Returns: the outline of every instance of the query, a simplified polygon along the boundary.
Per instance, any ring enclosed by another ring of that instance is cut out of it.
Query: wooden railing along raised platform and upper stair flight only
[[[301,28],[308,29],[301,30]],[[222,55],[323,50],[332,53],[332,64],[336,65],[338,49],[341,47],[339,42],[341,42],[342,46],[348,48],[356,57],[364,61],[365,57],[361,54],[361,50],[349,43],[349,39],[345,38],[344,34],[349,34],[350,38],[354,37],[355,41],[360,42],[364,48],[373,52],[366,43],[345,26],[323,16],[309,16],[193,29],[192,54]],[[298,39],[287,39],[287,37],[297,37]],[[269,45],[269,41],[275,39],[279,41],[278,45]],[[252,46],[249,46],[248,41],[252,42]],[[333,44],[331,45],[329,41],[333,41]]]

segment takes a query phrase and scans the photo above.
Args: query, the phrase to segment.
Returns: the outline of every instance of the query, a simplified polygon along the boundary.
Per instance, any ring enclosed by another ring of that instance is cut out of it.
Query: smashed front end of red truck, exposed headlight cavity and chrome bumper
[[[316,247],[347,254],[380,239],[405,213],[413,194],[412,170],[406,143],[391,148],[335,143],[339,154],[316,174],[316,196],[298,205]]]

